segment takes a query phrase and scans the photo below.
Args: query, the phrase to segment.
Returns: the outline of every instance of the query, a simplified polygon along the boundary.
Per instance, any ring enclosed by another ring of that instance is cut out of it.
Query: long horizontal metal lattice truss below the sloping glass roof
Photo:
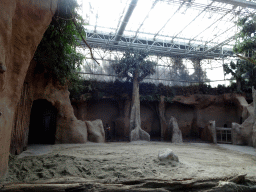
[[[122,39],[119,41],[119,44],[114,44],[114,42],[110,41],[107,43],[107,41],[111,39],[108,35],[103,34],[95,34],[95,33],[87,33],[87,39],[86,41],[91,47],[94,48],[101,48],[101,49],[108,49],[108,50],[119,50],[119,51],[125,51],[128,46],[130,45],[131,38],[128,37],[122,37]],[[136,42],[131,44],[131,48],[134,49],[147,49],[148,46],[151,46],[153,43],[154,46],[149,51],[151,55],[162,55],[162,56],[182,56],[183,58],[194,58],[198,56],[202,56],[202,58],[217,58],[217,57],[226,57],[226,56],[232,56],[233,52],[232,49],[226,49],[226,52],[222,53],[221,49],[218,49],[217,47],[209,52],[204,54],[205,49],[201,47],[200,49],[197,49],[198,45],[183,45],[183,44],[177,44],[177,43],[170,43],[170,42],[155,42],[155,41],[146,41],[141,39],[140,41],[136,40]],[[81,45],[83,43],[81,42]],[[170,49],[172,47],[172,49]],[[192,49],[188,52],[188,49]]]

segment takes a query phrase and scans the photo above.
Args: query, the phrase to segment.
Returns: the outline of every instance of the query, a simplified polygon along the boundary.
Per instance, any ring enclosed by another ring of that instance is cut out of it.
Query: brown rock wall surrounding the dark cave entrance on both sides
[[[79,121],[75,117],[67,86],[61,86],[45,73],[36,73],[36,65],[37,63],[32,60],[15,111],[10,149],[12,154],[19,154],[26,149],[30,137],[31,109],[33,102],[38,100],[48,101],[57,111],[54,143],[85,143],[87,141],[85,122]],[[43,109],[38,108],[35,111],[40,110]],[[38,123],[42,122],[38,121]],[[46,136],[45,138],[32,139],[47,140],[48,138]]]

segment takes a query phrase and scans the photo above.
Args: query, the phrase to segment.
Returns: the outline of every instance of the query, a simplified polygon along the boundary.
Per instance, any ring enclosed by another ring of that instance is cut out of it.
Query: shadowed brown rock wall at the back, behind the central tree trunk
[[[172,135],[168,122],[173,116],[183,139],[212,141],[207,129],[210,120],[215,120],[217,127],[231,127],[232,122],[239,123],[244,119],[240,97],[235,94],[176,96],[172,103],[167,103],[162,96],[160,101],[142,101],[141,128],[150,134],[152,140],[170,141]],[[109,124],[112,127],[112,136],[116,140],[128,140],[130,105],[128,96],[72,102],[78,119],[102,119],[104,126]]]

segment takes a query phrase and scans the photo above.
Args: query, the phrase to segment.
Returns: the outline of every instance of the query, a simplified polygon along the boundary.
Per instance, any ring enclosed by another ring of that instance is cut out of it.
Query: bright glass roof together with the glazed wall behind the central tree
[[[123,50],[131,46],[152,51],[151,59],[158,63],[156,74],[145,81],[166,85],[197,83],[171,79],[176,56],[183,58],[189,75],[196,72],[193,59],[200,59],[200,67],[208,78],[203,80],[205,83],[212,86],[229,84],[231,77],[224,76],[222,65],[236,59],[232,52],[234,37],[239,31],[236,22],[240,17],[255,13],[256,9],[256,0],[78,2],[80,14],[88,23],[86,41],[100,63],[91,59],[88,49],[81,49],[87,58],[80,72],[83,78],[114,81],[116,76],[110,67],[111,61],[120,59]],[[252,6],[249,8],[247,4]],[[129,12],[133,6],[133,11]]]

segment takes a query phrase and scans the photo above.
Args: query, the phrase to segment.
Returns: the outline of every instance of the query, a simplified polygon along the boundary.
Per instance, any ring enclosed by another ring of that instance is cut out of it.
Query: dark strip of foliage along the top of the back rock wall
[[[106,97],[122,98],[128,95],[132,96],[132,83],[116,80],[115,82],[99,82],[97,80],[81,80],[79,92],[70,89],[70,98],[81,99],[100,99]],[[153,83],[140,84],[140,100],[141,101],[159,101],[160,96],[165,96],[166,102],[172,102],[176,95],[189,96],[192,94],[208,94],[220,95],[223,93],[236,93],[236,86],[232,84],[229,87],[219,85],[212,88],[210,85],[200,84],[187,87],[174,86],[169,87],[163,84],[155,85]]]

